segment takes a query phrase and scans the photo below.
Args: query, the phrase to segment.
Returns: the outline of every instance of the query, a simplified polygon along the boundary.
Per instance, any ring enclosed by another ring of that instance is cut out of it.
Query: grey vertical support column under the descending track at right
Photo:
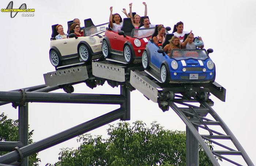
[[[198,131],[198,127],[195,127]],[[186,165],[199,166],[199,144],[186,126]]]

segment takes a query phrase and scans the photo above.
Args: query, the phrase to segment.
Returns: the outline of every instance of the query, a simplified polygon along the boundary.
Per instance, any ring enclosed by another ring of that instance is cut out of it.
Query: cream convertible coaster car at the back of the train
[[[54,67],[90,63],[102,56],[101,44],[109,23],[84,28],[84,36],[50,41],[50,62]]]

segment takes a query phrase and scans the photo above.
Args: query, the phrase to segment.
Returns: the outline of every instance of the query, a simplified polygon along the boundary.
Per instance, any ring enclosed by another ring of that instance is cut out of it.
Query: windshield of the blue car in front
[[[196,49],[196,50],[181,50],[181,49],[173,49],[170,55],[170,58],[176,60],[183,60],[183,59],[199,59],[205,60],[209,58],[206,50],[204,49]]]

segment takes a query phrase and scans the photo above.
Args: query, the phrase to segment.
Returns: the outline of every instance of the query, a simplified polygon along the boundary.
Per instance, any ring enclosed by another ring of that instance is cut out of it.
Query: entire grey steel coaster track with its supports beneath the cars
[[[4,150],[11,151],[15,147],[15,151],[0,157],[0,166],[20,164],[23,158],[31,154],[114,120],[129,120],[130,91],[135,89],[147,99],[158,103],[163,111],[172,108],[185,123],[187,129],[187,166],[199,166],[199,144],[214,166],[220,165],[217,160],[220,158],[237,166],[245,164],[254,166],[236,137],[211,108],[214,105],[214,102],[209,99],[211,94],[225,102],[226,89],[216,82],[208,84],[162,84],[156,81],[157,78],[151,71],[144,71],[140,64],[123,65],[110,61],[93,62],[92,65],[72,68],[64,67],[44,74],[44,78],[45,85],[0,92],[0,106],[11,102],[14,107],[19,107],[21,110],[25,107],[26,110],[28,102],[60,102],[111,103],[120,104],[121,107],[31,145],[27,145],[24,141],[13,142],[11,146],[0,142],[0,150],[5,148]],[[103,85],[105,81],[112,87],[120,85],[120,95],[71,94],[74,92],[72,86],[74,84],[85,82],[87,86],[94,88]],[[63,88],[67,94],[47,93],[58,88]],[[27,129],[23,131],[27,131]],[[67,135],[69,137],[63,139]],[[207,143],[212,146],[209,147]],[[244,162],[240,163],[241,159],[237,161],[237,157],[242,158]],[[26,162],[24,164],[24,161],[22,164],[27,165]]]

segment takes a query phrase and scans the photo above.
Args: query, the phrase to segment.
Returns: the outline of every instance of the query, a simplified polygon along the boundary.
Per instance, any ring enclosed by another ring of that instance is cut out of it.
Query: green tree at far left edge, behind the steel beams
[[[7,116],[2,113],[0,115],[0,141],[18,141],[18,120],[7,119]],[[33,143],[31,139],[33,131],[29,132],[29,144]],[[0,156],[9,152],[0,151]],[[37,153],[29,157],[29,166],[39,166],[41,160],[37,158]]]

